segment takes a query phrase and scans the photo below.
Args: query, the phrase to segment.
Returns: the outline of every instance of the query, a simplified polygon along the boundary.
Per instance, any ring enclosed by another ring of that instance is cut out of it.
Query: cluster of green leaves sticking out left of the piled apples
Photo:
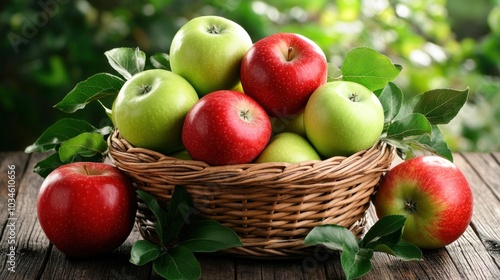
[[[114,98],[127,79],[145,69],[146,55],[138,48],[115,48],[105,52],[105,56],[121,77],[110,73],[97,73],[77,83],[54,105],[56,109],[74,113],[93,101]],[[150,58],[150,62],[156,68],[168,67],[168,55],[155,54]],[[104,105],[103,108],[107,117],[111,118],[110,110]],[[95,127],[85,120],[63,118],[49,126],[32,145],[26,147],[25,152],[49,153],[34,169],[45,178],[51,171],[67,163],[102,162],[108,151],[106,137],[112,130],[113,125],[109,119],[103,122],[101,127]]]

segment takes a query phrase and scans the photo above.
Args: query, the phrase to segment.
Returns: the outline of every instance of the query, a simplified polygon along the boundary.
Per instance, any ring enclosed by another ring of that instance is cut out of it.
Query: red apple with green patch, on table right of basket
[[[421,156],[386,173],[375,195],[379,218],[407,217],[403,239],[422,249],[442,248],[457,240],[472,218],[467,179],[449,160]]]

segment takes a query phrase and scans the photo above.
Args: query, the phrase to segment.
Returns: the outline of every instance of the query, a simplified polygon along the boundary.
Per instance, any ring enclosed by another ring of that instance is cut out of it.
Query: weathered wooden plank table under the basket
[[[32,170],[41,156],[0,153],[0,279],[160,279],[150,265],[128,262],[130,248],[140,238],[136,230],[120,248],[91,260],[67,258],[51,245],[36,215],[42,178]],[[500,153],[455,154],[455,163],[474,193],[474,215],[464,235],[446,248],[424,251],[423,261],[376,253],[363,279],[500,279]],[[15,170],[10,182],[9,167]],[[15,198],[8,201],[12,191]],[[370,224],[373,217],[371,207]],[[263,261],[200,255],[199,261],[202,279],[343,279],[338,252],[322,257]],[[12,265],[15,272],[9,270]]]

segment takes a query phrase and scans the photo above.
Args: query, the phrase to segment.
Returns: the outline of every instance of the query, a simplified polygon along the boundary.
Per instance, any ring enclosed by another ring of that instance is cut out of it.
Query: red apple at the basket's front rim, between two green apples
[[[210,165],[248,163],[271,138],[271,121],[249,96],[220,90],[202,97],[188,112],[182,143],[191,158]]]

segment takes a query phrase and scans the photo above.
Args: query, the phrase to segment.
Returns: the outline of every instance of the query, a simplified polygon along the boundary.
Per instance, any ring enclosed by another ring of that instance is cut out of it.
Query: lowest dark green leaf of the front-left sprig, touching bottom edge
[[[153,269],[165,279],[199,279],[201,267],[193,252],[178,246],[153,261]]]

